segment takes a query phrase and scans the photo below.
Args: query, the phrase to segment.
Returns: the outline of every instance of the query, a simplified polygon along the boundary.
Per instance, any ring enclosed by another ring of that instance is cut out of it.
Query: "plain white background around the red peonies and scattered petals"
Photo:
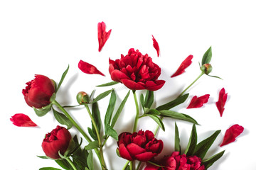
[[[78,91],[96,94],[111,87],[97,88],[110,82],[108,60],[126,55],[134,47],[149,54],[162,69],[159,79],[166,80],[156,91],[154,106],[174,99],[196,79],[204,52],[212,46],[213,72],[223,78],[204,75],[188,91],[191,96],[174,111],[195,118],[198,140],[215,130],[222,130],[206,157],[225,149],[225,155],[210,169],[256,169],[255,165],[255,4],[254,1],[0,1],[0,56],[1,56],[1,169],[35,170],[43,166],[58,167],[43,155],[41,142],[47,132],[58,123],[53,113],[39,118],[28,107],[21,94],[34,74],[43,74],[59,81],[70,65],[70,71],[58,92],[57,100],[63,105],[75,105]],[[104,21],[112,29],[102,52],[98,52],[97,23]],[[151,35],[159,42],[161,55],[156,56]],[[181,76],[170,78],[179,64],[193,55],[193,63]],[[94,64],[106,77],[80,72],[78,62]],[[120,103],[128,89],[122,84],[113,86]],[[220,118],[215,101],[225,87],[228,101]],[[137,96],[141,91],[138,91]],[[144,92],[143,92],[144,93]],[[186,109],[194,95],[210,94],[202,108]],[[109,96],[99,102],[102,120]],[[90,126],[85,108],[70,109],[82,128]],[[9,120],[15,113],[25,113],[38,128],[19,128]],[[132,131],[135,115],[134,101],[129,96],[124,112],[114,127],[118,133]],[[191,123],[176,122],[184,150],[191,132]],[[238,139],[219,147],[225,130],[238,123],[245,130]],[[164,140],[164,154],[174,149],[174,120],[164,119],[166,131],[160,130],[158,139]],[[149,118],[139,120],[139,129],[154,130],[156,124]],[[75,135],[76,130],[70,130]],[[85,143],[86,145],[86,143]],[[122,169],[126,160],[115,154],[117,145],[110,139],[105,148],[107,166]],[[95,159],[95,164],[97,160]],[[97,166],[95,169],[98,169]]]

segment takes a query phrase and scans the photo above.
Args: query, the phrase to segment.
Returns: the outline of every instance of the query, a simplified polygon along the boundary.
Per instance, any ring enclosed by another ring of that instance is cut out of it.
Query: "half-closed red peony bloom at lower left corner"
[[[57,126],[54,130],[46,134],[43,139],[42,148],[47,157],[60,159],[58,152],[64,155],[71,140],[70,132],[63,127]]]

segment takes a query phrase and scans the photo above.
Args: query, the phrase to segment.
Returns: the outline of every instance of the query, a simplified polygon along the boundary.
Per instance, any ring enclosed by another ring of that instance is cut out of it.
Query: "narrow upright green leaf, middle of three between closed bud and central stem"
[[[107,112],[105,114],[105,120],[104,120],[105,134],[107,133],[107,125],[110,125],[110,121],[112,118],[112,114],[114,112],[114,106],[115,106],[116,101],[117,101],[117,96],[113,90],[111,92],[110,102],[109,102],[109,105],[107,106]]]

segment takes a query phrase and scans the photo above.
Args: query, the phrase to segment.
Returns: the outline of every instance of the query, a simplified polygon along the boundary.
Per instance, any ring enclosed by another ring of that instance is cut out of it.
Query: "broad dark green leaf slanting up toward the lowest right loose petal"
[[[219,133],[220,133],[220,130],[217,130],[213,133],[213,135],[206,138],[206,140],[203,140],[202,142],[198,143],[198,145],[196,145],[196,149],[193,152],[193,154],[203,159],[206,156],[206,152],[208,151],[210,146],[213,145],[213,142],[215,141]]]

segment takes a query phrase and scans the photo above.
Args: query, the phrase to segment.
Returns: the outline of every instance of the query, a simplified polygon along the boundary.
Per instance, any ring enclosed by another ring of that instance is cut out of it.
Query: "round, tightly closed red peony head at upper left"
[[[55,85],[51,79],[43,75],[36,75],[35,79],[26,83],[22,90],[28,106],[42,108],[50,104],[50,97],[55,93]]]

